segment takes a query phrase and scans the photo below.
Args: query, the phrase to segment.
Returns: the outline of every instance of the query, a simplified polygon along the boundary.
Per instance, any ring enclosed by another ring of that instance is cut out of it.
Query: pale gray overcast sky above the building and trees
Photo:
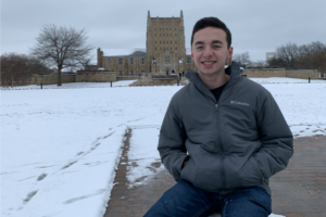
[[[234,53],[248,51],[252,61],[289,41],[326,43],[326,0],[0,0],[0,55],[28,54],[45,24],[85,28],[95,48],[146,48],[148,10],[152,17],[183,10],[186,48],[193,24],[216,16],[233,34]]]

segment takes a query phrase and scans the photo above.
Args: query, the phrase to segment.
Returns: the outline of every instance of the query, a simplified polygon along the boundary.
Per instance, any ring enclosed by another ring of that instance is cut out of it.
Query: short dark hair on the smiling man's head
[[[225,23],[223,23],[222,21],[220,21],[216,17],[204,17],[199,20],[192,29],[192,35],[191,35],[191,48],[192,48],[192,42],[193,42],[193,35],[205,28],[205,27],[216,27],[216,28],[221,28],[226,33],[226,41],[227,41],[227,48],[230,47],[231,44],[231,34],[229,31],[229,29],[227,28],[227,26],[225,25]]]

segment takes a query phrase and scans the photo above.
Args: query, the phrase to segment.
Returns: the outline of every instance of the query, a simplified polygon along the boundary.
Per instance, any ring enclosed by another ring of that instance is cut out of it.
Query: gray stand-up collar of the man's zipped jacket
[[[238,79],[240,79],[240,65],[236,62],[233,62],[230,66],[225,68],[225,73],[229,75],[229,80],[227,81],[227,85],[224,89],[227,87],[233,86]],[[215,97],[213,93],[203,85],[201,81],[199,75],[195,71],[187,71],[186,77],[201,91],[203,94],[208,95],[212,100],[215,101]]]

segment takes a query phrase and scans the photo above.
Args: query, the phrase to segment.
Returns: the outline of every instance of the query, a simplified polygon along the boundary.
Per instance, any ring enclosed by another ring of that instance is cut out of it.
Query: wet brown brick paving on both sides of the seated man
[[[121,163],[128,164],[128,148],[127,139]],[[175,184],[164,169],[146,186],[128,189],[126,171],[126,165],[120,164],[114,180],[118,184],[112,190],[104,217],[140,217]],[[271,189],[274,214],[326,217],[326,137],[296,139],[294,155],[287,169],[271,179]]]

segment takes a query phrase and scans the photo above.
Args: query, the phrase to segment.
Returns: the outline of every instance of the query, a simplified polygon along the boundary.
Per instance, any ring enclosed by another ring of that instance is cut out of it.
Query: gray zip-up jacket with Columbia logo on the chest
[[[190,82],[172,98],[160,131],[162,163],[176,181],[209,192],[261,187],[271,194],[269,177],[293,154],[292,133],[266,89],[236,63],[226,73],[217,103],[198,73],[187,72]]]

